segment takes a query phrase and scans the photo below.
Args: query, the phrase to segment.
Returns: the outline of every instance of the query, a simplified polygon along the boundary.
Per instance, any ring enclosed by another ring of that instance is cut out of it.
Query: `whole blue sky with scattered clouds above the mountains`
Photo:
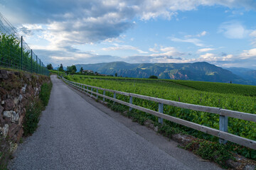
[[[45,64],[209,62],[256,69],[256,0],[1,0]]]

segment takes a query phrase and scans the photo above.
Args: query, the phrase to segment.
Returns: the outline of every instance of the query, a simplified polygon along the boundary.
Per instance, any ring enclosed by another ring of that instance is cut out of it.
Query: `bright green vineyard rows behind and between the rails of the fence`
[[[68,76],[65,78],[70,81],[76,81],[92,86],[99,86],[105,89],[113,89],[133,94],[142,94],[144,96],[164,98],[171,101],[181,101],[183,103],[191,103],[201,106],[212,106],[233,111],[256,114],[256,98],[247,95],[250,94],[250,91],[253,93],[253,90],[256,89],[256,86],[238,85],[239,88],[237,89],[237,94],[232,94],[229,93],[228,90],[226,93],[225,91],[221,91],[220,85],[223,85],[223,88],[226,88],[225,86],[233,86],[236,84],[217,84],[218,86],[215,86],[215,83],[192,81],[198,84],[208,84],[208,89],[206,89],[205,85],[205,89],[201,89],[200,91],[198,89],[192,88],[191,86],[184,86],[183,84],[176,83],[176,81],[162,81],[160,79],[117,79],[116,77],[112,77],[112,79],[110,79],[110,77],[105,78],[78,75]],[[250,89],[250,91],[247,91],[247,88]],[[213,89],[213,92],[210,92],[210,89]],[[245,93],[245,91],[247,91],[247,93]],[[113,94],[106,91],[106,95],[112,96]],[[127,96],[117,95],[117,99],[129,102],[129,98]],[[137,106],[142,106],[153,111],[158,111],[158,103],[153,101],[133,98],[133,103]],[[149,115],[139,111],[136,111],[136,113],[139,113],[142,117],[144,116],[144,118],[157,122],[157,118],[154,115]],[[176,118],[191,121],[193,123],[206,125],[210,128],[219,129],[219,117],[217,114],[192,111],[185,108],[177,108],[174,106],[166,105],[164,105],[164,113]],[[136,119],[139,119],[139,117]],[[165,123],[171,127],[184,130],[188,132],[188,134],[200,137],[202,139],[211,141],[218,140],[218,137],[214,137],[203,132],[198,132],[197,130],[186,128],[182,125],[171,123],[169,121],[165,121]],[[171,134],[172,130],[170,129],[166,131],[169,131],[167,132],[168,135]],[[250,140],[256,140],[256,123],[235,118],[228,118],[228,132],[234,135],[239,135],[241,137],[246,137]],[[244,149],[244,152],[241,151],[244,156],[252,158],[252,154],[249,152],[250,150],[247,148]]]

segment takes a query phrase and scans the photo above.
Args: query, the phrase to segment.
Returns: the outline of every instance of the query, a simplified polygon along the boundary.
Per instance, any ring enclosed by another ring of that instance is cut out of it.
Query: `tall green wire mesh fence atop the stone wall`
[[[49,75],[41,59],[31,50],[23,36],[0,13],[0,67],[22,69]]]

